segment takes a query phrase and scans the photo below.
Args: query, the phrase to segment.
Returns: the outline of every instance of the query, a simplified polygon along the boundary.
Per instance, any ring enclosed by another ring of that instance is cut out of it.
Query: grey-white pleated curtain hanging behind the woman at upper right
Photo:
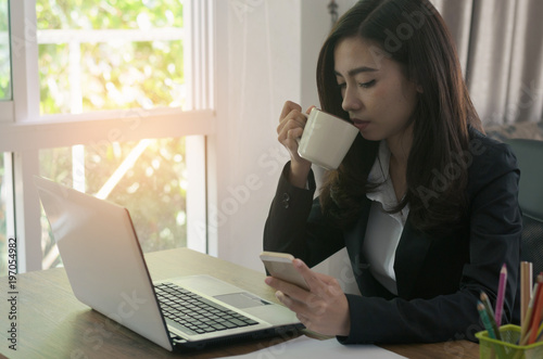
[[[543,1],[432,0],[484,126],[543,120]]]

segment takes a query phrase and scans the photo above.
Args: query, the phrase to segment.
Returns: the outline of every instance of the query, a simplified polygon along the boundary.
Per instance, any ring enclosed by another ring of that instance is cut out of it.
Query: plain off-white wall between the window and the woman
[[[288,161],[282,104],[317,104],[315,66],[329,0],[217,1],[217,129],[209,140],[210,253],[263,270],[264,223]],[[339,1],[344,12],[354,0]],[[217,179],[215,182],[214,179]],[[215,251],[216,248],[216,251]]]

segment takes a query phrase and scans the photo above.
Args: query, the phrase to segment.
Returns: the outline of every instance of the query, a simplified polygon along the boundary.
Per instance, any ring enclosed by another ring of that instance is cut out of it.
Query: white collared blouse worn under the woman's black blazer
[[[394,259],[409,208],[405,206],[395,214],[384,211],[399,203],[389,176],[389,164],[390,150],[383,140],[379,144],[379,153],[368,177],[370,182],[382,184],[376,192],[366,194],[372,202],[362,251],[375,279],[391,293],[397,294]]]

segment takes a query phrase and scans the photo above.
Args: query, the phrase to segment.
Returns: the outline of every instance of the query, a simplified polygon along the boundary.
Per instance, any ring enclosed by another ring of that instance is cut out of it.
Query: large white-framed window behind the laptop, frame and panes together
[[[14,154],[20,270],[61,265],[35,175],[127,207],[143,252],[206,252],[211,3],[10,2],[17,101],[0,151]]]

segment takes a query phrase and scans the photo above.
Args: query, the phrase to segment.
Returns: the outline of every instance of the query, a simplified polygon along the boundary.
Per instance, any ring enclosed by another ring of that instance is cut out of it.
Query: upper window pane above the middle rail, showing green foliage
[[[40,113],[182,107],[181,0],[37,0]]]

